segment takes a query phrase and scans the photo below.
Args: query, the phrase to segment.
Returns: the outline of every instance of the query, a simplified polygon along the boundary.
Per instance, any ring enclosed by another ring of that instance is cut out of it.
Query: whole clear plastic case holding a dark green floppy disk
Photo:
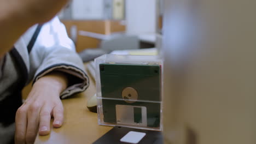
[[[95,64],[98,123],[161,131],[161,59],[103,55]]]

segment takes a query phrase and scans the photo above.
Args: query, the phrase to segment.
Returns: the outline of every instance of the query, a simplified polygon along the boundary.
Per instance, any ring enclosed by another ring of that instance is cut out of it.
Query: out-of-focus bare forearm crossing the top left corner
[[[0,57],[31,26],[52,19],[68,0],[0,0]]]

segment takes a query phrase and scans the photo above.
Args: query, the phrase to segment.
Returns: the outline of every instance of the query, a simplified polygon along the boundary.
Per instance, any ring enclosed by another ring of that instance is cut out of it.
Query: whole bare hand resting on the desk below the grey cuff
[[[53,127],[61,127],[63,106],[59,96],[66,87],[65,75],[57,72],[34,83],[25,103],[16,112],[15,143],[33,143],[37,133],[48,135],[51,116],[54,117]]]

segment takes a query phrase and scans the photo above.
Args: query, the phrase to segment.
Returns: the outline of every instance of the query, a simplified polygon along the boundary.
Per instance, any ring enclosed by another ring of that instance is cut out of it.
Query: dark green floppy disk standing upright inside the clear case
[[[100,64],[103,121],[160,127],[161,65]]]

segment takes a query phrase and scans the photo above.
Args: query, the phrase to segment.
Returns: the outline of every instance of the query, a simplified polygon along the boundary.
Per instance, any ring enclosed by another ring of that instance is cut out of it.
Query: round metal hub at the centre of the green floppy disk
[[[136,89],[132,87],[126,87],[124,88],[122,92],[122,97],[126,101],[126,103],[135,103],[136,100],[138,99],[138,93]]]

